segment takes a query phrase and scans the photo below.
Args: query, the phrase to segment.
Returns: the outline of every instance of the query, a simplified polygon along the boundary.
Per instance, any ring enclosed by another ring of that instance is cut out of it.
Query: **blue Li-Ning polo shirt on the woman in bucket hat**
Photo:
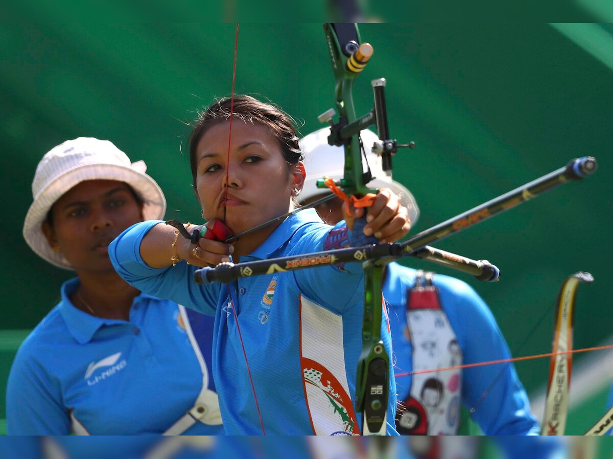
[[[177,304],[141,293],[129,321],[101,319],[70,302],[78,283],[64,283],[59,304],[17,352],[7,433],[163,433],[194,406],[203,383]],[[209,380],[205,375],[207,387]],[[221,425],[197,422],[186,434],[222,432]]]

